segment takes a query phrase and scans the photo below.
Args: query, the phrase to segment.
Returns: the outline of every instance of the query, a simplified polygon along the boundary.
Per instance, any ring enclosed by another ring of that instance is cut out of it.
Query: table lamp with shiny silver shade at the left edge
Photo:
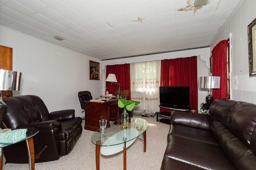
[[[6,113],[6,104],[2,99],[1,90],[20,90],[21,72],[0,69],[0,127]]]

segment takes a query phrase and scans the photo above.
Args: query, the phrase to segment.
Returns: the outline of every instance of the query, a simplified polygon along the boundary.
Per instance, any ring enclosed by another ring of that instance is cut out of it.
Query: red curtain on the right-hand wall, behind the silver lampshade
[[[228,41],[222,40],[212,49],[212,76],[220,76],[220,89],[212,91],[214,100],[228,98],[227,47]]]

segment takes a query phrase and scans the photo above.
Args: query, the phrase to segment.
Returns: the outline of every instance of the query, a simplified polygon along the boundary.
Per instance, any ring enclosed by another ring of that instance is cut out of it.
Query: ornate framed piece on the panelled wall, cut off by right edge
[[[256,76],[256,18],[248,25],[249,74]]]

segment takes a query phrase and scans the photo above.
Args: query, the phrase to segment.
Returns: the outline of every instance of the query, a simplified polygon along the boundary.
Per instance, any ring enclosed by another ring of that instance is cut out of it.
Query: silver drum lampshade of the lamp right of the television
[[[199,77],[199,88],[220,88],[219,76]]]

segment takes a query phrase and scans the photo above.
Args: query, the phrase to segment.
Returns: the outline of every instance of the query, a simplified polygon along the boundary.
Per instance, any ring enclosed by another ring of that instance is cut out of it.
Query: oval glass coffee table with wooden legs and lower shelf
[[[100,153],[111,155],[123,150],[124,170],[126,170],[126,148],[129,147],[140,135],[142,135],[143,152],[146,152],[146,130],[148,122],[142,118],[132,117],[129,119],[128,128],[123,129],[121,125],[110,123],[104,133],[100,129],[92,134],[91,141],[96,145],[96,170],[100,169]]]

